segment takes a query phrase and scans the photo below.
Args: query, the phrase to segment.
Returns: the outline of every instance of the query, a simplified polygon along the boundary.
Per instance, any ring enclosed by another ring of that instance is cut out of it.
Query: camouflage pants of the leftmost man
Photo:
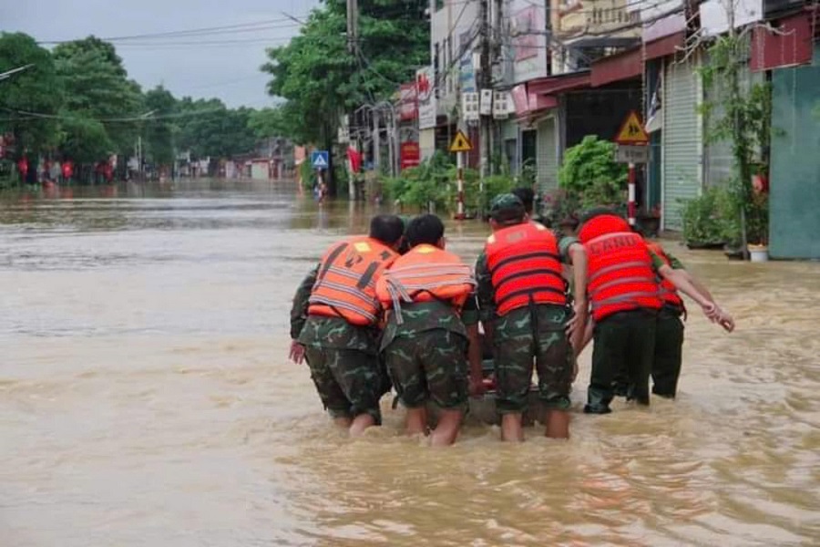
[[[355,349],[306,346],[305,358],[316,391],[333,418],[369,414],[381,424],[383,379],[377,356]]]

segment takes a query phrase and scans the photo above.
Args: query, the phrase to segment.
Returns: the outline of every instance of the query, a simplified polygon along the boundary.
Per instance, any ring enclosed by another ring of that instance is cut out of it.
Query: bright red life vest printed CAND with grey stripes
[[[661,309],[649,248],[626,221],[615,215],[594,217],[581,227],[579,240],[587,250],[587,291],[595,321],[639,308]]]

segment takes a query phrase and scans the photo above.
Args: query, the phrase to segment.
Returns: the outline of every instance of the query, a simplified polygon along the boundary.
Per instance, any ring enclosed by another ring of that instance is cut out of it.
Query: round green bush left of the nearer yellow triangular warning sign
[[[615,161],[615,145],[588,135],[564,153],[559,185],[583,207],[624,201],[627,166]]]

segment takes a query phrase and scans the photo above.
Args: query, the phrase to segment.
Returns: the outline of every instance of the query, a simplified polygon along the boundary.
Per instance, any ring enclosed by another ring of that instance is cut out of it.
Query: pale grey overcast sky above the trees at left
[[[268,77],[259,71],[266,60],[265,47],[281,45],[298,32],[298,25],[282,12],[302,19],[317,4],[316,0],[0,0],[0,30],[56,41],[90,34],[121,37],[233,26],[210,34],[114,43],[129,77],[143,88],[162,84],[177,97],[217,97],[231,107],[260,108],[272,104],[265,93]]]

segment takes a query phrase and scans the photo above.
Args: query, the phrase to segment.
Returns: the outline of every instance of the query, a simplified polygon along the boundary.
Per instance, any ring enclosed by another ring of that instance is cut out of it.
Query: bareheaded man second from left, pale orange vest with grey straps
[[[475,281],[469,266],[445,251],[444,230],[435,215],[413,219],[406,232],[411,249],[376,285],[388,309],[381,346],[398,399],[407,408],[407,433],[425,433],[428,400],[442,409],[432,446],[455,442],[468,391],[483,387]]]

